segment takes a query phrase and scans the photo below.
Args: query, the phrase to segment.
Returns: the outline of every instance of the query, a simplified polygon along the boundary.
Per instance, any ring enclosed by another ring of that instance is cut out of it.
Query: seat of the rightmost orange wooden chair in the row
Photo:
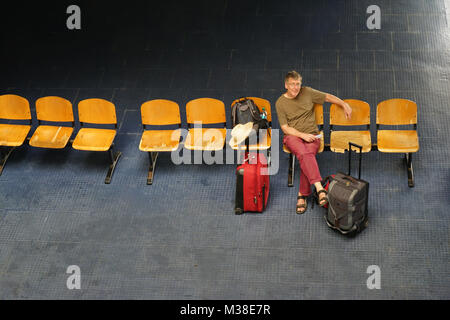
[[[412,153],[419,150],[416,130],[378,130],[378,150],[390,153]]]

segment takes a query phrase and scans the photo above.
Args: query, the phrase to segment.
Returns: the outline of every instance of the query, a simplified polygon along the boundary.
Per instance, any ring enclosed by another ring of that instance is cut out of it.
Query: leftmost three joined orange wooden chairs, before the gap
[[[114,138],[117,131],[117,117],[114,104],[103,99],[86,99],[78,104],[78,115],[81,129],[75,139],[71,140],[75,129],[72,103],[61,97],[43,97],[36,101],[36,117],[38,127],[29,138],[30,146],[48,149],[63,149],[69,140],[72,147],[84,151],[107,151],[111,164],[105,183],[111,183],[111,178],[121,152],[114,150]],[[0,119],[24,120],[29,124],[1,123],[0,175],[12,151],[21,146],[31,130],[31,111],[27,99],[17,95],[0,96]],[[71,123],[71,126],[55,125],[54,123]],[[91,124],[114,125],[114,129],[86,127]],[[3,154],[4,153],[4,154]]]

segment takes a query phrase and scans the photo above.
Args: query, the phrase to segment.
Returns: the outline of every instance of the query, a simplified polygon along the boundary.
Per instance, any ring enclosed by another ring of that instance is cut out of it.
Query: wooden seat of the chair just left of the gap
[[[108,151],[116,136],[116,130],[81,128],[78,131],[73,148],[84,151]]]

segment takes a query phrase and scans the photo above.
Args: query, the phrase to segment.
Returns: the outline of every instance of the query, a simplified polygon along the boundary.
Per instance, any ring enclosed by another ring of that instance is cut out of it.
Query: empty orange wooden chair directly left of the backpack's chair
[[[186,104],[186,119],[189,127],[184,143],[186,149],[205,151],[223,149],[227,136],[227,120],[222,101],[212,98],[191,100]],[[223,129],[197,127],[205,124],[223,124]]]

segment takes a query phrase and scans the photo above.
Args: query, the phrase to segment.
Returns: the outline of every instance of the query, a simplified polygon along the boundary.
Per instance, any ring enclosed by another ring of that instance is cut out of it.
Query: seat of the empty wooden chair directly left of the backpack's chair
[[[188,150],[222,150],[226,137],[227,129],[192,128],[188,132],[184,147]]]

